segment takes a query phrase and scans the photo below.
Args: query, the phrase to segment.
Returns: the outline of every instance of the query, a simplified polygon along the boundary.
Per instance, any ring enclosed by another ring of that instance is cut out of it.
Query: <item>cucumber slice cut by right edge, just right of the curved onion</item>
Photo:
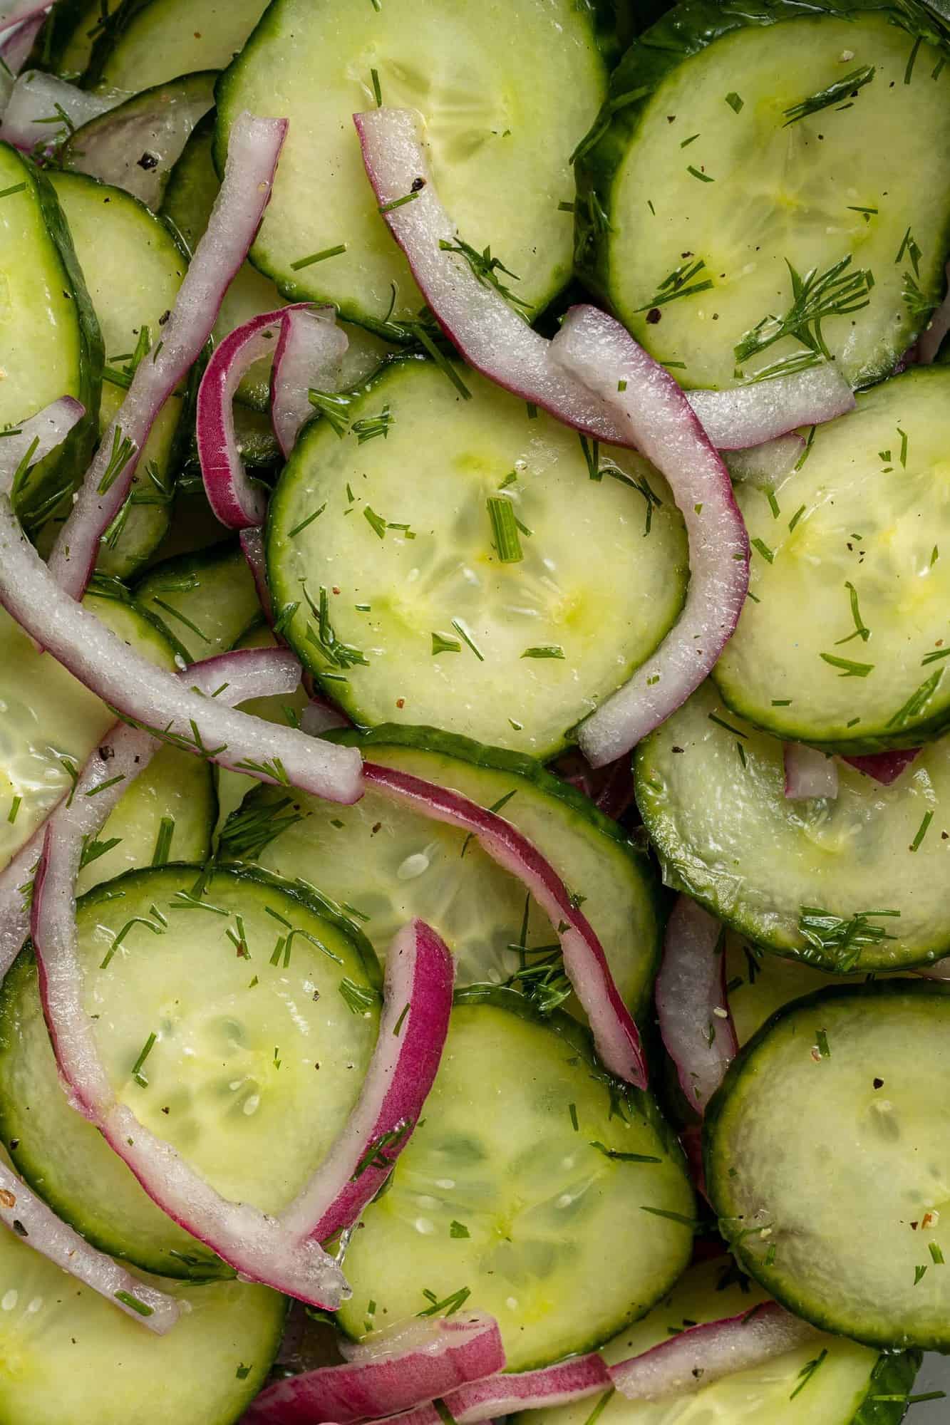
[[[949,399],[947,368],[896,376],[816,428],[776,490],[736,490],[756,597],[713,677],[767,732],[874,752],[950,724]]]

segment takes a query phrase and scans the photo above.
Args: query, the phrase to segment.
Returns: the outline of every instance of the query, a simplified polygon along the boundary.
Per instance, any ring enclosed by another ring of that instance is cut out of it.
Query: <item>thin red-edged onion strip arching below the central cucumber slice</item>
[[[471,832],[492,861],[521,881],[551,918],[563,952],[565,972],[588,1016],[605,1067],[645,1089],[646,1060],[640,1036],[613,983],[603,946],[541,852],[511,822],[476,807],[459,792],[375,762],[364,764],[364,778],[377,791],[407,802],[424,817]]]

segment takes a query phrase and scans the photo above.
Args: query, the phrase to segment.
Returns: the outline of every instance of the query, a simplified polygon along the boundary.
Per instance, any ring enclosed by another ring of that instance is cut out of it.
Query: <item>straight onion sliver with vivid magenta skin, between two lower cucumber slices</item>
[[[314,1241],[351,1227],[392,1171],[435,1080],[452,1010],[455,963],[422,921],[387,953],[379,1037],[357,1106],[281,1223]],[[375,1411],[374,1411],[375,1414]]]

